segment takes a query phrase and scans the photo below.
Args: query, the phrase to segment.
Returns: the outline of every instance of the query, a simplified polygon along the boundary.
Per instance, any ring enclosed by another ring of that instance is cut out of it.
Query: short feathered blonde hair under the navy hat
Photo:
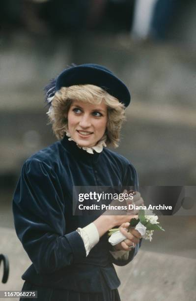
[[[120,129],[125,120],[124,105],[106,90],[94,85],[74,85],[62,87],[55,93],[49,109],[49,121],[52,123],[53,132],[57,139],[62,139],[68,130],[68,112],[73,101],[83,101],[92,104],[105,102],[108,109],[106,127],[107,146],[118,147]]]

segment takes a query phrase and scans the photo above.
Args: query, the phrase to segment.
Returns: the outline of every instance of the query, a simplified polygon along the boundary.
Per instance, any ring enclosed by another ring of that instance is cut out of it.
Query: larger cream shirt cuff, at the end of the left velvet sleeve
[[[95,246],[95,244],[97,244],[99,241],[99,232],[97,227],[94,223],[90,223],[84,228],[78,228],[76,231],[80,234],[82,240],[84,241],[84,247],[87,256],[93,246]]]

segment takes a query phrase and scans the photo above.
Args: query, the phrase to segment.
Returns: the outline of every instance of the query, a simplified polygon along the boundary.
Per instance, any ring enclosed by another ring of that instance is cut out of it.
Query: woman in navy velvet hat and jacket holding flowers
[[[23,290],[38,291],[42,301],[119,301],[112,263],[124,266],[134,258],[140,233],[126,230],[130,213],[74,215],[73,187],[138,188],[134,167],[106,148],[118,145],[130,93],[96,64],[63,70],[46,91],[61,140],[28,158],[14,194],[16,232],[32,261]],[[139,193],[134,201],[142,203]],[[112,247],[108,230],[116,226],[126,239]]]

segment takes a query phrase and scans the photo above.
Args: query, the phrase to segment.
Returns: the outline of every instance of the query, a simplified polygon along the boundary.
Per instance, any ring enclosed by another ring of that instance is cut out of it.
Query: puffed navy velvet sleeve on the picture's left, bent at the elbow
[[[65,234],[64,197],[48,164],[26,161],[13,198],[13,214],[18,238],[37,273],[52,273],[85,258],[79,233]]]

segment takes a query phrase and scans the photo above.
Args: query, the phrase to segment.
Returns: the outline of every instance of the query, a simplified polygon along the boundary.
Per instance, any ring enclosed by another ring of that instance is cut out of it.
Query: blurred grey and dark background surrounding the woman
[[[24,160],[56,138],[44,91],[71,63],[103,64],[132,94],[117,150],[140,185],[196,185],[196,2],[0,1],[0,253],[21,290],[28,255],[17,239],[12,195]],[[161,216],[166,232],[116,267],[122,301],[195,300],[196,217]]]

